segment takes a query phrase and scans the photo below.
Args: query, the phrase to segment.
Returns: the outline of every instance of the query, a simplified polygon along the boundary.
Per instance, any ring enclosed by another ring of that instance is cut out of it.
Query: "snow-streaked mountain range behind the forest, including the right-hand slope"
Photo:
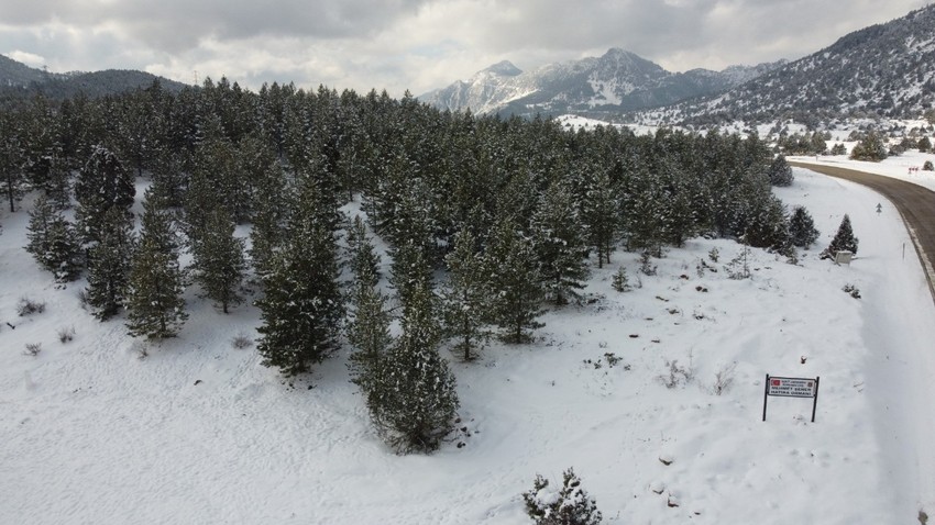
[[[671,72],[632,53],[549,64],[509,62],[419,100],[475,113],[579,114],[609,121],[718,123],[806,118],[917,116],[935,94],[935,5],[839,38],[804,58],[723,71]]]

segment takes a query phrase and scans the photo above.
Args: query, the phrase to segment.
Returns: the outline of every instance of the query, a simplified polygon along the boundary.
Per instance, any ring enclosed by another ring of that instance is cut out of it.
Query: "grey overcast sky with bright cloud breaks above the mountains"
[[[51,71],[142,69],[418,96],[499,60],[622,47],[671,71],[795,59],[930,0],[0,0],[0,54]],[[197,74],[196,74],[197,71]]]

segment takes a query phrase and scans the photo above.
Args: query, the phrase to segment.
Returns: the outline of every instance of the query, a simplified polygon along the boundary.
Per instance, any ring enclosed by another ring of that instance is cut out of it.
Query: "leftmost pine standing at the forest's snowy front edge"
[[[77,278],[81,270],[81,248],[72,224],[57,212],[46,196],[36,199],[30,212],[26,252],[36,262],[55,275],[55,280],[66,282]]]

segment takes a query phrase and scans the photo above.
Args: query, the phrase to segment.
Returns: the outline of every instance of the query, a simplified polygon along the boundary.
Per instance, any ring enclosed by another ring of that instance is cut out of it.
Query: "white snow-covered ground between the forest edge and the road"
[[[526,524],[520,494],[569,467],[605,523],[917,523],[935,512],[932,297],[887,201],[794,174],[777,192],[822,232],[799,265],[755,249],[733,280],[741,247],[692,239],[646,276],[618,252],[593,303],[546,314],[535,344],[470,364],[443,349],[464,431],[433,456],[380,442],[346,351],[288,384],[235,348],[251,306],[223,315],[191,289],[180,336],[140,358],[122,320],[81,310],[82,281],[56,287],[22,249],[26,212],[3,212],[0,523]],[[858,257],[818,260],[845,213]],[[620,264],[641,287],[610,288]],[[24,297],[45,312],[18,316]],[[667,361],[686,372],[673,388]],[[761,421],[767,373],[821,377],[815,423],[785,398]]]

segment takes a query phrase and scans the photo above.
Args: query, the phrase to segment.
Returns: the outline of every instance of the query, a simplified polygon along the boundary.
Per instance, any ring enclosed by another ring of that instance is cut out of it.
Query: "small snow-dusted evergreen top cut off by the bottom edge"
[[[526,514],[537,525],[597,525],[604,518],[597,503],[587,496],[572,468],[564,471],[562,488],[549,489],[549,480],[536,476],[532,489],[522,493]]]

